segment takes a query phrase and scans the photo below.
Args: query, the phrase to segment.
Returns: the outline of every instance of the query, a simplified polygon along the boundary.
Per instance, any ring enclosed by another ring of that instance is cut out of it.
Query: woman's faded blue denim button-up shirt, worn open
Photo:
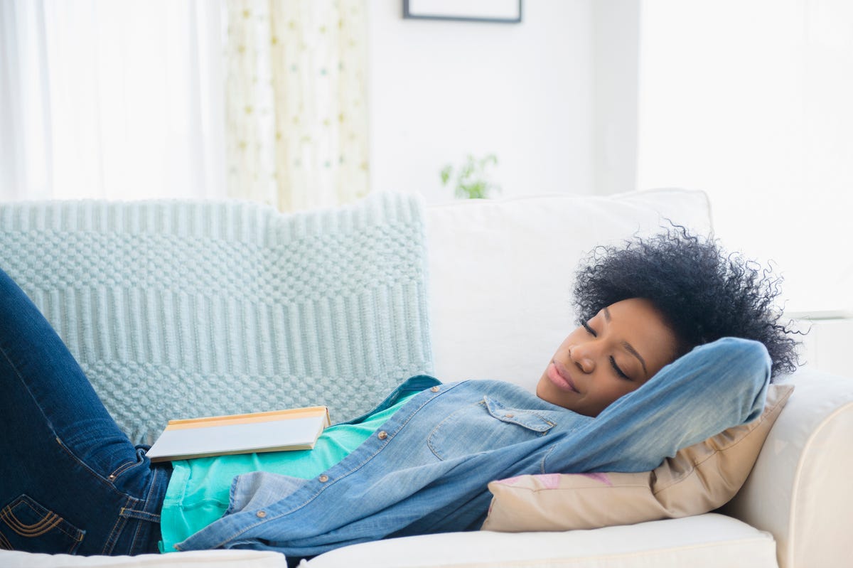
[[[419,394],[343,461],[313,479],[237,476],[223,518],[176,548],[311,556],[391,536],[476,530],[491,480],[651,470],[678,449],[761,414],[769,375],[763,345],[720,339],[595,418],[501,381],[443,385],[412,377],[377,409]]]

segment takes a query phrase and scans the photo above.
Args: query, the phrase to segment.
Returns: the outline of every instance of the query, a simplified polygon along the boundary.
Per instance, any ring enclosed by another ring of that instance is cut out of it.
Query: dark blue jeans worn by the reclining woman
[[[157,552],[170,466],[152,465],[0,270],[0,548]]]

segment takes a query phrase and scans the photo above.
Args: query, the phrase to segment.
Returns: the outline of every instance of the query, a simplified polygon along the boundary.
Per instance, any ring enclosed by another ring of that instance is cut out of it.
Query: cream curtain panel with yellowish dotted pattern
[[[229,197],[296,211],[367,194],[364,0],[225,6]]]

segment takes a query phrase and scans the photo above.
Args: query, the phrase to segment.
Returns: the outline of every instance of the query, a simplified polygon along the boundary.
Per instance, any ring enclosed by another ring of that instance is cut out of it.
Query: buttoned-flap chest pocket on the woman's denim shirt
[[[427,445],[439,460],[450,460],[542,438],[554,426],[543,414],[511,409],[484,397],[439,422]]]

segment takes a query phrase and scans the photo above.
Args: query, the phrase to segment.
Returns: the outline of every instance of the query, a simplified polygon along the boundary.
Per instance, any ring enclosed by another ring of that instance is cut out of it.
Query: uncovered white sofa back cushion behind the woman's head
[[[549,195],[427,207],[436,376],[508,380],[534,390],[577,326],[572,277],[595,246],[649,235],[666,221],[711,230],[701,191]]]

